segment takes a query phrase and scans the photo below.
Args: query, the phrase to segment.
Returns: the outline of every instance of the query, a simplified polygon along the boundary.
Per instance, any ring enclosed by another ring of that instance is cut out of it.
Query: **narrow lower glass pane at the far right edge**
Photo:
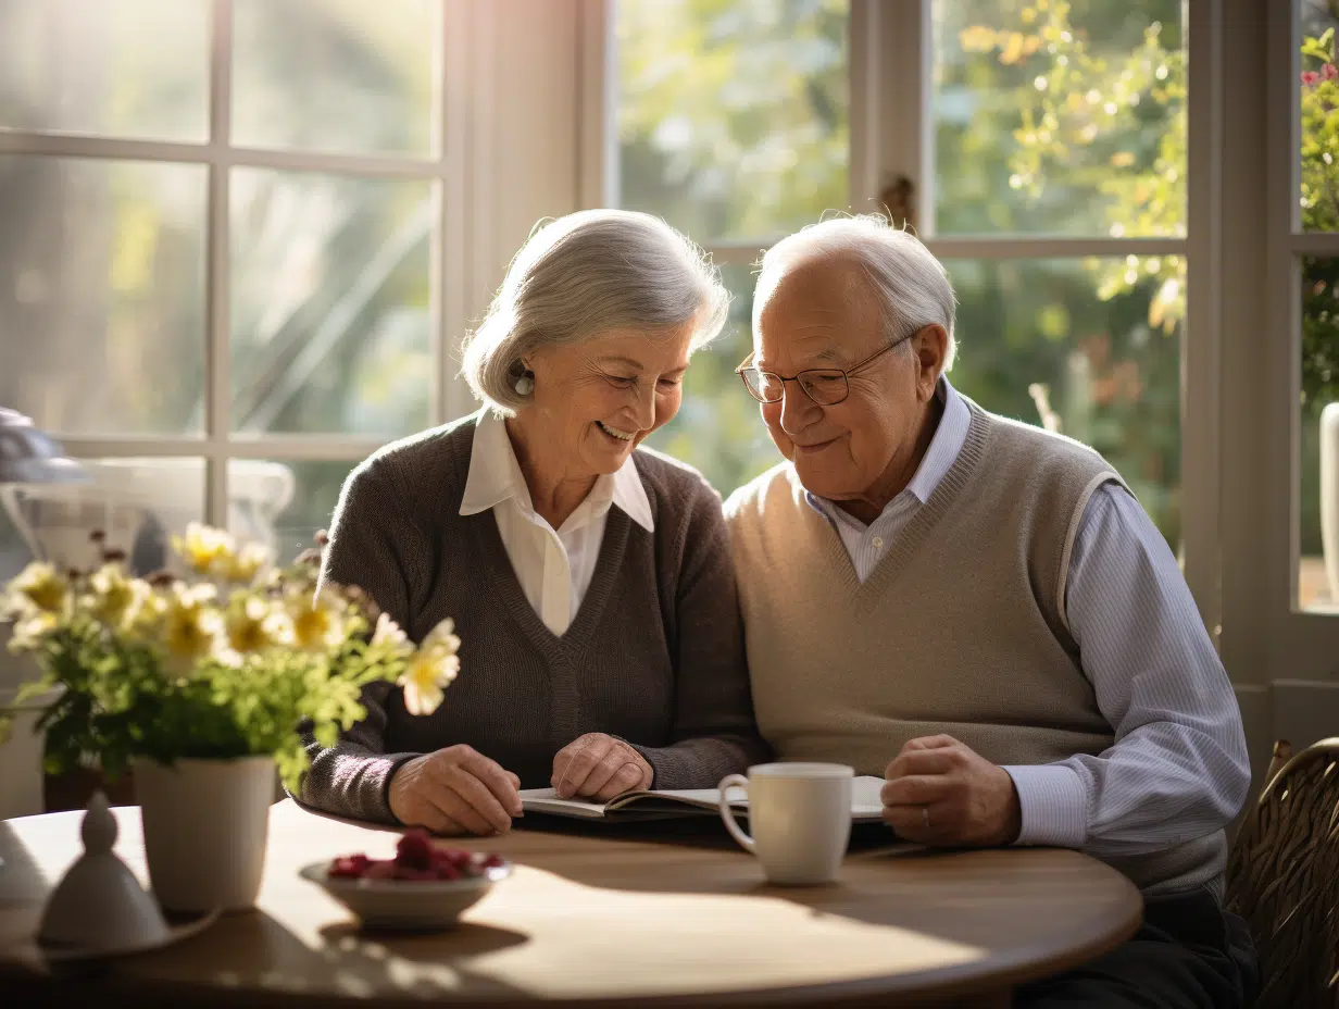
[[[1339,259],[1302,260],[1297,604],[1339,612]]]

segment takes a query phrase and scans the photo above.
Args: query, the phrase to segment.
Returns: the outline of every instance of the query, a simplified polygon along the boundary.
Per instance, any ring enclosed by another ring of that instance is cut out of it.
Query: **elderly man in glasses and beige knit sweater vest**
[[[956,393],[953,350],[944,268],[882,218],[763,259],[739,374],[786,462],[726,507],[758,725],[783,760],[884,775],[907,839],[1135,882],[1141,933],[1016,1004],[1241,1005],[1220,899],[1251,770],[1176,557],[1101,456]]]

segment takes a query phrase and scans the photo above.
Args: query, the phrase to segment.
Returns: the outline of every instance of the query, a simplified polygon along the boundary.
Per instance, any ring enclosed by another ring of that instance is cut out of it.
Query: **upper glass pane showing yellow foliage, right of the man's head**
[[[939,234],[1185,234],[1181,0],[935,0]]]

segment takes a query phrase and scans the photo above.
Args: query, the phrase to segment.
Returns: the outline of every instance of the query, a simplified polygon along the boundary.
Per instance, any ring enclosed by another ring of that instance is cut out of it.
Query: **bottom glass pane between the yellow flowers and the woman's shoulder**
[[[265,543],[280,563],[293,560],[328,529],[339,489],[358,462],[229,460],[228,528]]]

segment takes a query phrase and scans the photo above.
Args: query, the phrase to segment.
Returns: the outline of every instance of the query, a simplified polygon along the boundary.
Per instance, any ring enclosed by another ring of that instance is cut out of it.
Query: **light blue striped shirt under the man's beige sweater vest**
[[[967,440],[967,403],[947,379],[939,395],[944,414],[925,458],[870,525],[809,494],[861,582]],[[1138,855],[1225,827],[1251,784],[1241,713],[1176,557],[1121,486],[1089,500],[1066,584],[1070,632],[1115,742],[1095,757],[1004,768],[1023,811],[1018,843]]]

